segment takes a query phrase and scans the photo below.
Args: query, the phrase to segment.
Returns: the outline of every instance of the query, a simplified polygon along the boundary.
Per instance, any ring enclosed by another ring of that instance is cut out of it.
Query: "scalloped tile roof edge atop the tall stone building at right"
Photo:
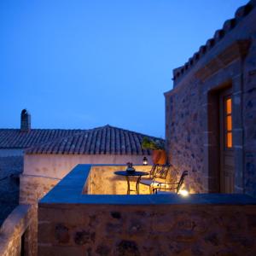
[[[195,63],[207,54],[207,52],[212,49],[213,46],[218,44],[225,35],[230,32],[234,27],[236,27],[241,20],[243,20],[251,11],[255,8],[256,1],[251,0],[247,4],[242,5],[238,9],[236,9],[235,17],[230,20],[225,20],[224,25],[221,29],[215,31],[213,38],[209,38],[205,45],[201,45],[199,50],[195,52],[195,54],[189,58],[189,60],[181,67],[177,67],[173,69],[173,78],[172,80],[175,81],[183,77],[185,73],[190,70],[191,67],[194,67]]]

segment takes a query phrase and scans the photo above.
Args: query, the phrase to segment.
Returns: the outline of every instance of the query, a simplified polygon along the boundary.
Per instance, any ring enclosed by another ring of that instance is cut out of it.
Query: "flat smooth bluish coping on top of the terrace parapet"
[[[94,166],[125,165],[78,165],[38,202],[39,207],[55,207],[55,204],[94,205],[256,205],[256,199],[242,194],[193,194],[181,195],[84,195],[84,185]],[[139,166],[137,166],[139,167]],[[100,171],[99,171],[100,172]]]

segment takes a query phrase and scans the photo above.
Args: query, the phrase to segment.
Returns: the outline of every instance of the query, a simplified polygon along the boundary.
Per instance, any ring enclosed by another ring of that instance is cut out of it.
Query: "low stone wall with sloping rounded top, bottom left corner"
[[[0,228],[0,255],[20,256],[32,253],[32,207],[20,205],[9,214]]]

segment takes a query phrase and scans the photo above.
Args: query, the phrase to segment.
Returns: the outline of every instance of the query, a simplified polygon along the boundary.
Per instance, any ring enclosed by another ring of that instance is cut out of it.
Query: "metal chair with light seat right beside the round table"
[[[149,174],[149,178],[142,178],[139,183],[146,185],[149,187],[149,193],[152,194],[154,192],[154,187],[157,186],[159,183],[165,183],[162,182],[163,180],[166,180],[166,176],[170,170],[170,165],[160,166],[155,165],[152,166],[152,169]],[[161,181],[158,181],[158,179],[161,179]]]

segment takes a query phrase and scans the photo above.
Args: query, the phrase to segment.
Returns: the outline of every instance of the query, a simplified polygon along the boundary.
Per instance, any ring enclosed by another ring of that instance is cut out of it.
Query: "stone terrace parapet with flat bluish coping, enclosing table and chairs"
[[[122,169],[76,166],[39,201],[38,255],[256,252],[255,199],[236,194],[124,195],[125,181],[110,175]],[[104,181],[102,195],[92,189],[98,184],[91,177],[98,174]],[[121,189],[113,190],[118,184]]]

